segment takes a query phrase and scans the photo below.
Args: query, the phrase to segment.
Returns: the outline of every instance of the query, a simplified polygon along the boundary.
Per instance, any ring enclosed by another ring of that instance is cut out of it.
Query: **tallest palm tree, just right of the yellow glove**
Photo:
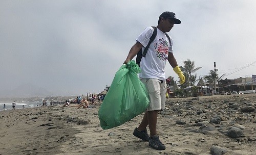
[[[198,69],[202,67],[197,67],[195,68],[195,62],[187,59],[187,61],[183,61],[184,67],[180,66],[181,71],[186,72],[188,76],[188,83],[190,83],[190,86],[192,86],[192,81],[191,81],[191,73],[196,72]]]

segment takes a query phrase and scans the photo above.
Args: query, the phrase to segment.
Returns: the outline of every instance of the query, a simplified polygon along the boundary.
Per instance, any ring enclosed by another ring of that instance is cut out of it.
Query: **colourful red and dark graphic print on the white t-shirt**
[[[156,55],[160,60],[166,60],[168,57],[169,43],[165,39],[159,39],[155,45]]]

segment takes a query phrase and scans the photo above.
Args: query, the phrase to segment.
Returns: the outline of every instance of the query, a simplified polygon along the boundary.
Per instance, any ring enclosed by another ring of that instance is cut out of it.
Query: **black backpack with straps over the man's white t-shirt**
[[[157,28],[156,27],[152,27],[154,29],[152,36],[150,37],[150,41],[148,41],[148,44],[146,45],[144,51],[142,51],[142,48],[139,50],[137,57],[136,57],[136,64],[138,64],[140,66],[140,61],[142,59],[142,57],[146,56],[147,50],[150,47],[150,44],[153,42],[153,40],[156,38],[157,36]],[[167,33],[165,33],[166,37],[169,39],[169,43],[170,43],[170,37],[169,35],[167,35]]]

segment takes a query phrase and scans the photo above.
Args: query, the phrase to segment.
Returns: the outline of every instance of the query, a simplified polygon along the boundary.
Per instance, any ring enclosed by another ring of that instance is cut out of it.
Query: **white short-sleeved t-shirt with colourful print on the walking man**
[[[136,39],[144,47],[150,41],[154,29],[147,27],[142,34]],[[170,46],[170,47],[169,47]],[[144,47],[142,50],[144,50]],[[157,36],[150,44],[145,57],[140,62],[141,73],[139,76],[144,79],[159,79],[165,81],[164,68],[166,65],[168,53],[173,52],[173,39],[166,37],[165,33],[157,28]]]

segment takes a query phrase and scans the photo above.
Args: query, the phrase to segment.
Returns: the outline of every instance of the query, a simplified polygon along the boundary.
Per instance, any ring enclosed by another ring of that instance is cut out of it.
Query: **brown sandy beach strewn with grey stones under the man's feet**
[[[169,98],[159,113],[165,150],[133,136],[143,114],[102,130],[95,108],[0,112],[0,154],[255,154],[256,94]],[[231,127],[238,133],[230,132]],[[241,132],[241,134],[240,134]]]

